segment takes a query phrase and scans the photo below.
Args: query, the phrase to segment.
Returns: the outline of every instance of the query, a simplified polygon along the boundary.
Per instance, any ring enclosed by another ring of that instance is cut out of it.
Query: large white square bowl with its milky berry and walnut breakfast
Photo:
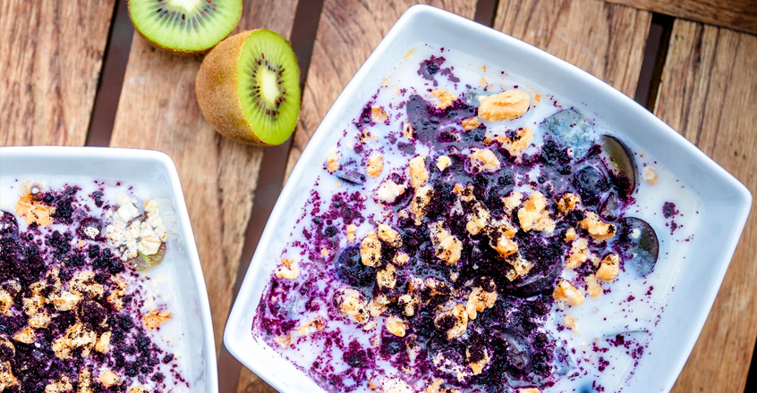
[[[287,180],[225,346],[282,392],[668,391],[750,205],[600,79],[414,6]]]

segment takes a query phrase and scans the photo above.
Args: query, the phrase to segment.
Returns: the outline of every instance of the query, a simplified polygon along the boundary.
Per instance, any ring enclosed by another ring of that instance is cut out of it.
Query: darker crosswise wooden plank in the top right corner
[[[757,33],[757,1],[754,0],[605,0],[632,5],[654,13],[703,21],[730,29]]]

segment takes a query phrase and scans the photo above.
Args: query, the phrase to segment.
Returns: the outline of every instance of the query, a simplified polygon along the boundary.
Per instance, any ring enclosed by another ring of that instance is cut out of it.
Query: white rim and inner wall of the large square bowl
[[[702,200],[701,225],[687,264],[675,282],[650,351],[625,385],[628,392],[668,391],[684,367],[718,294],[728,263],[744,229],[752,196],[743,184],[675,130],[631,98],[540,49],[452,13],[416,5],[389,30],[331,107],[310,139],[279,197],[226,324],[229,352],[281,392],[322,392],[304,372],[252,334],[260,297],[281,255],[289,232],[323,164],[323,151],[334,143],[333,130],[344,130],[368,102],[396,63],[418,43],[443,46],[495,64],[510,75],[533,81],[555,96],[583,103],[611,130],[660,163]],[[684,255],[679,255],[683,257]]]

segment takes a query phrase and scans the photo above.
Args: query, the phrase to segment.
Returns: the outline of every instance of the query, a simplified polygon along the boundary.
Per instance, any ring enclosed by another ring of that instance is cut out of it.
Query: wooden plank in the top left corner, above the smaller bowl
[[[82,146],[115,0],[0,1],[0,146]]]

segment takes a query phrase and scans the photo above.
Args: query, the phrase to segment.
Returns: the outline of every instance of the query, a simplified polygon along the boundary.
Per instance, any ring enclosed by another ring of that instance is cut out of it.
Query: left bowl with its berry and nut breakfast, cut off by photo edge
[[[0,190],[1,295],[24,297],[0,316],[0,344],[15,354],[6,391],[217,392],[208,294],[167,155],[2,147]],[[25,247],[44,259],[23,264]]]

